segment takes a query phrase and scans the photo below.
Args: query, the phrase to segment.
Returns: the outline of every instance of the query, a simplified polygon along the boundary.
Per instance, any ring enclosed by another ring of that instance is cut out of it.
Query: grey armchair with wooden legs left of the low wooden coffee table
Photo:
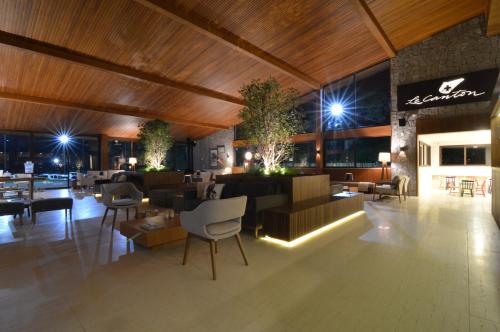
[[[130,182],[103,184],[101,186],[101,194],[102,202],[106,206],[106,212],[104,212],[104,216],[102,217],[101,227],[104,225],[109,210],[113,210],[114,212],[112,229],[115,229],[118,209],[127,210],[128,220],[128,210],[134,208],[137,216],[138,207],[142,204],[143,193]]]

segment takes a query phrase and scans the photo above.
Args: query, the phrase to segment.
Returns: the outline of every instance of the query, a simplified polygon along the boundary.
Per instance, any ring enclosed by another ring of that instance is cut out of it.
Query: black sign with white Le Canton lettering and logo
[[[398,86],[398,110],[488,101],[498,79],[498,69],[450,76]]]

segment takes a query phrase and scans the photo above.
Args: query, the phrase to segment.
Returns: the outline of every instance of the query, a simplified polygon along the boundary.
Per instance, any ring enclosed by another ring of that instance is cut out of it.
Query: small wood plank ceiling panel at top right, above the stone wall
[[[371,0],[368,5],[396,49],[478,16],[488,0]]]

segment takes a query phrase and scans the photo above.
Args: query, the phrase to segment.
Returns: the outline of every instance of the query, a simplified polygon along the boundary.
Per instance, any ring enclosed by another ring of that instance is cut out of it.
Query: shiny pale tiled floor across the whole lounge
[[[50,194],[65,195],[66,192]],[[47,195],[47,194],[45,194]],[[94,198],[36,226],[0,218],[0,331],[499,331],[500,231],[490,198],[368,201],[296,248],[243,236],[134,248]],[[122,216],[123,217],[123,216]]]

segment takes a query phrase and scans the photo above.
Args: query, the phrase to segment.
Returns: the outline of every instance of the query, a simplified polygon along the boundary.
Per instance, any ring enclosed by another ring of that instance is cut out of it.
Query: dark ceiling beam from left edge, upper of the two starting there
[[[189,83],[174,81],[156,74],[143,72],[131,67],[122,66],[116,63],[95,58],[90,55],[77,53],[64,47],[41,42],[24,36],[15,35],[9,32],[0,31],[0,44],[22,49],[24,51],[47,55],[70,63],[76,63],[93,69],[103,70],[112,74],[117,74],[126,78],[136,79],[149,83],[155,83],[169,88],[188,91],[205,97],[215,98],[233,104],[244,105],[242,99],[210,90],[201,86]]]

